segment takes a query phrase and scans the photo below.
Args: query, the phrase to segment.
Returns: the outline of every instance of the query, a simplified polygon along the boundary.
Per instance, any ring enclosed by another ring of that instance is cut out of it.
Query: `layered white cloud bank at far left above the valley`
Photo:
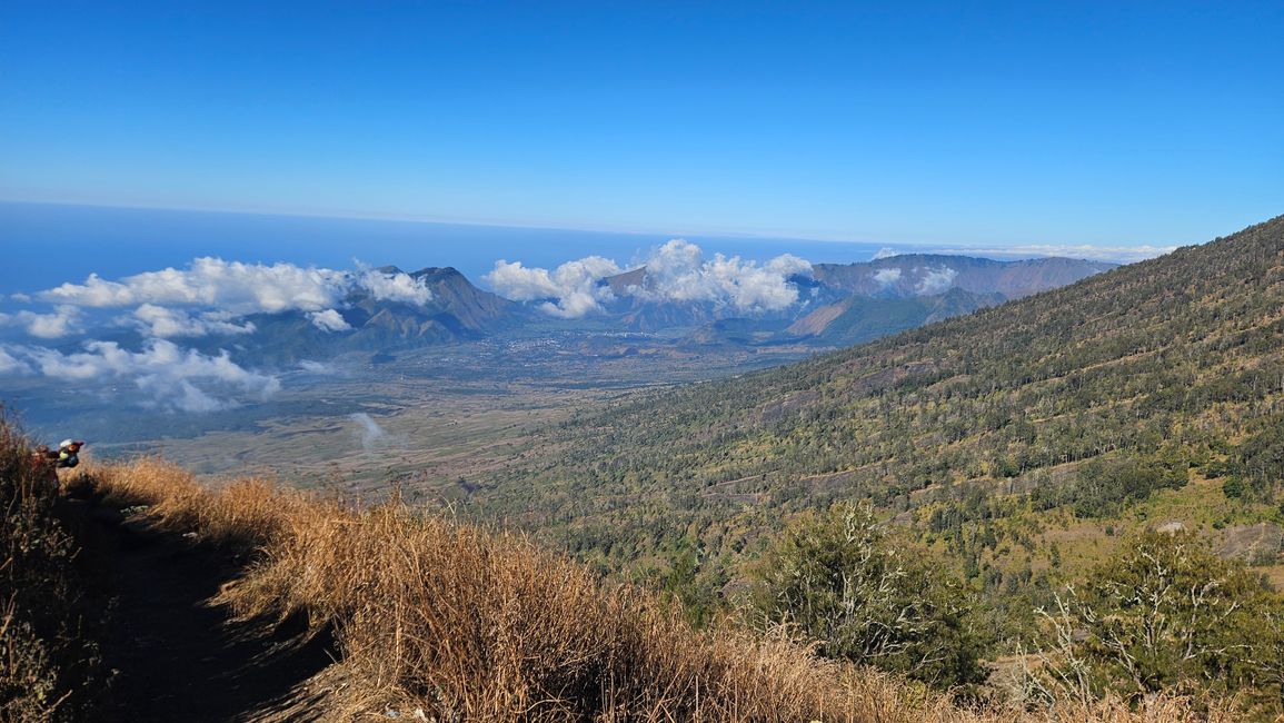
[[[21,327],[36,340],[60,339],[89,335],[90,321],[101,322],[110,309],[128,309],[108,324],[136,330],[143,336],[140,351],[116,342],[86,342],[82,351],[71,353],[37,344],[5,345],[0,348],[0,374],[41,375],[63,383],[126,381],[146,397],[145,406],[184,412],[223,410],[272,396],[279,380],[239,366],[227,351],[209,356],[178,347],[172,339],[250,334],[256,327],[247,316],[282,312],[300,312],[327,333],[348,331],[352,326],[339,309],[353,294],[419,306],[433,299],[419,279],[360,263],[354,271],[338,271],[205,257],[186,268],[114,281],[90,275],[82,284],[12,297],[19,303],[51,304],[53,311],[0,313],[0,325]]]

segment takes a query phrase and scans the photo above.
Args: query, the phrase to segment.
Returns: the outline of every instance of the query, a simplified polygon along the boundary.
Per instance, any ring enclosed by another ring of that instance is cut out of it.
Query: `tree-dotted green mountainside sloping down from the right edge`
[[[1050,580],[1156,521],[1271,565],[1284,217],[799,365],[623,396],[546,449],[469,509],[639,574],[692,557],[701,604],[765,530],[849,498],[1026,618]]]

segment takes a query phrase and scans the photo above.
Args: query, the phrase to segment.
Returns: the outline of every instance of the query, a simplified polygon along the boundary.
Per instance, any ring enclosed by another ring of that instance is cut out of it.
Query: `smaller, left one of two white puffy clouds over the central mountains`
[[[502,297],[519,302],[551,299],[539,308],[552,316],[579,318],[601,311],[603,302],[615,298],[601,280],[620,271],[619,265],[600,256],[566,262],[552,272],[523,266],[520,261],[499,259],[483,280]]]

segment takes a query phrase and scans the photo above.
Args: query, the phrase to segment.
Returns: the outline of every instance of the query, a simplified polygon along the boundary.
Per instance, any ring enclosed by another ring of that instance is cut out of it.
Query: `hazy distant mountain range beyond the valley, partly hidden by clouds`
[[[250,335],[211,336],[198,348],[231,348],[256,363],[322,360],[344,352],[384,352],[460,343],[551,329],[621,330],[670,334],[681,344],[756,345],[809,343],[846,345],[883,334],[968,313],[1099,274],[1113,265],[1044,258],[990,261],[959,256],[910,254],[868,263],[817,265],[810,276],[790,284],[797,303],[779,311],[746,315],[711,302],[674,302],[647,294],[645,267],[600,284],[614,301],[582,320],[559,320],[539,311],[541,302],[514,302],[470,283],[455,268],[410,274],[433,293],[424,306],[351,294],[339,311],[347,329],[325,330],[302,312],[256,315]],[[383,267],[383,272],[399,272]]]

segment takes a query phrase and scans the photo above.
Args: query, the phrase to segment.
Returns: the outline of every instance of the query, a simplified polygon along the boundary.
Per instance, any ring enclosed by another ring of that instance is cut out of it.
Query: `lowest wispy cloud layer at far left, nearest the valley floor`
[[[139,352],[114,342],[89,342],[83,349],[5,347],[0,352],[9,362],[0,360],[0,370],[18,366],[60,381],[130,380],[149,406],[185,412],[225,410],[236,406],[236,397],[266,399],[280,389],[275,376],[236,365],[227,352],[207,356],[164,339],[150,339]]]

